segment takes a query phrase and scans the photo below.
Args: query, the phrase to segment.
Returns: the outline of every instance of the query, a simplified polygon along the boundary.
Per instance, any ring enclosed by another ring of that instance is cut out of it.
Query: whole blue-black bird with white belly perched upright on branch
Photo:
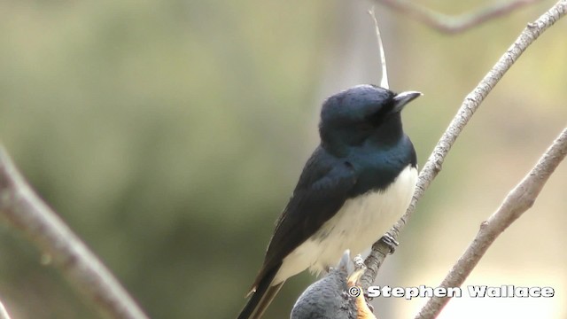
[[[322,105],[321,144],[276,222],[264,264],[238,319],[260,318],[291,276],[361,253],[408,208],[417,179],[416,151],[400,112],[421,96],[359,85]]]

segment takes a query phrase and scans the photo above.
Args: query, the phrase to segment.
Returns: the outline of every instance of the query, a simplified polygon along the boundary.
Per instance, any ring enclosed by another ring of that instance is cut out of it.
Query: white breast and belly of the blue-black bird
[[[406,212],[416,181],[417,169],[408,166],[385,191],[346,200],[321,230],[283,259],[272,285],[306,268],[318,273],[335,266],[346,249],[355,255],[369,248]]]

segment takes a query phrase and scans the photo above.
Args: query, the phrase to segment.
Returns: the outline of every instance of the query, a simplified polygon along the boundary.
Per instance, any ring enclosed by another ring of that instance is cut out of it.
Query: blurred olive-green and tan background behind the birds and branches
[[[447,13],[490,1],[420,1]],[[231,318],[317,144],[321,101],[378,82],[371,2],[0,1],[0,139],[35,190],[153,318]],[[461,35],[377,6],[394,90],[423,166],[532,4]],[[379,282],[435,286],[567,118],[567,21],[524,53],[447,158]],[[550,300],[453,300],[442,317],[567,315],[567,168],[470,284],[553,286]],[[96,318],[41,253],[0,224],[0,299],[14,319]],[[285,318],[315,278],[291,279]],[[381,300],[405,318],[425,300]]]

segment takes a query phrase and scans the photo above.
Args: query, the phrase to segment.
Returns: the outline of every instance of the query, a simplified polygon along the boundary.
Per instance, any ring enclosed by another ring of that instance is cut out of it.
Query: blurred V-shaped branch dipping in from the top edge
[[[384,4],[398,12],[407,14],[423,24],[432,27],[439,32],[447,34],[458,34],[476,27],[491,19],[499,18],[509,12],[513,12],[527,4],[533,4],[540,0],[516,0],[506,3],[495,3],[476,12],[463,13],[459,16],[435,12],[408,0],[376,0],[378,4]]]

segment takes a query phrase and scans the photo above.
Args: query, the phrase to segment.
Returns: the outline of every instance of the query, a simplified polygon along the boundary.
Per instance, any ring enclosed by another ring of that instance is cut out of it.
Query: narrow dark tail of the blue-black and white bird
[[[237,319],[260,319],[264,311],[268,308],[269,304],[276,297],[277,292],[280,291],[284,283],[281,282],[276,285],[271,285],[274,277],[276,276],[279,267],[269,271],[256,285],[256,291],[252,293],[252,297],[246,303],[246,306],[240,311]]]

